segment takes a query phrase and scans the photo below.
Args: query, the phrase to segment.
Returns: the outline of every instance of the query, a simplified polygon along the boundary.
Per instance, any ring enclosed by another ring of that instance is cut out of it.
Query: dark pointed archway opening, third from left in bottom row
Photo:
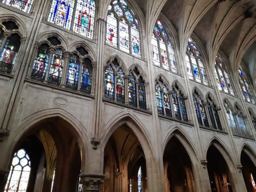
[[[195,192],[191,159],[182,143],[173,137],[163,156],[166,192]]]

